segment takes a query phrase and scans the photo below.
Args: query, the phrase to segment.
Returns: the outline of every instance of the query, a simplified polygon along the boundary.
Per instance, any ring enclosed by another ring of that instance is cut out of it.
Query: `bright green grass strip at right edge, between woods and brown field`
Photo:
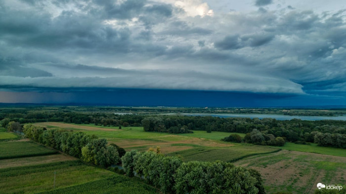
[[[286,142],[285,145],[281,148],[283,150],[292,150],[292,151],[299,151],[299,152],[309,152],[309,153],[316,153],[316,154],[346,157],[346,149],[322,147],[322,146],[317,146],[317,144],[315,143],[311,143],[311,145],[302,145],[302,144]]]

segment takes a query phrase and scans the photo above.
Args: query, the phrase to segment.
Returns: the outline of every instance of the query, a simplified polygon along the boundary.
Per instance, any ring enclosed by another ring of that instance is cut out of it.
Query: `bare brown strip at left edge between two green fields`
[[[48,156],[35,156],[35,157],[26,157],[26,158],[16,158],[16,159],[4,159],[0,160],[0,169],[17,167],[17,166],[27,166],[35,164],[43,164],[50,162],[62,162],[62,161],[72,161],[77,160],[71,156],[64,154],[54,154]]]

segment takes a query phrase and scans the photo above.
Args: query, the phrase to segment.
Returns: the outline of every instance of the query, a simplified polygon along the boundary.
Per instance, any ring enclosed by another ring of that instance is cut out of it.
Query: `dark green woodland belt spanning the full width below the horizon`
[[[99,110],[102,109],[101,112]],[[292,119],[280,121],[271,118],[219,118],[219,117],[192,117],[179,115],[116,115],[106,113],[109,107],[26,107],[1,108],[1,126],[8,127],[10,122],[65,122],[75,124],[93,124],[102,126],[143,126],[146,131],[188,133],[192,130],[225,131],[251,133],[253,129],[263,134],[273,134],[283,137],[286,141],[305,143],[316,142],[322,146],[338,146],[332,143],[319,143],[315,133],[318,131],[331,137],[331,141],[344,142],[346,121],[323,120],[303,121]],[[176,109],[176,108],[175,108]],[[77,111],[78,110],[78,111]],[[106,111],[107,110],[107,111]],[[329,133],[329,134],[328,134]]]

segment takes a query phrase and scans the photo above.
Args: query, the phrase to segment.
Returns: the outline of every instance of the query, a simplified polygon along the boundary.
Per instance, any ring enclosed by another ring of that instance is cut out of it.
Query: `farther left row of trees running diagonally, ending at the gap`
[[[23,128],[25,136],[36,142],[102,167],[121,162],[120,158],[125,155],[123,148],[115,144],[108,145],[106,139],[84,132],[47,130],[32,124],[26,124]]]

